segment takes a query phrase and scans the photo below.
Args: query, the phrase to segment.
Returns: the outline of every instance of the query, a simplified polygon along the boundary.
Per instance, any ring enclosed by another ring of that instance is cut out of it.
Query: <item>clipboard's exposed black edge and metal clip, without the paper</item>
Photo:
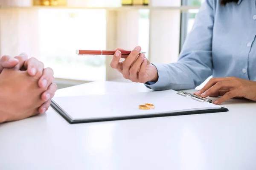
[[[198,102],[209,102],[212,103],[211,99],[202,98],[200,96],[195,96],[187,92],[177,92],[181,96],[190,96],[192,99],[197,100]],[[192,114],[204,114],[204,113],[219,113],[229,111],[227,108],[221,107],[219,109],[207,109],[207,110],[198,110],[198,111],[181,111],[176,113],[156,113],[150,115],[137,115],[137,116],[119,116],[119,117],[110,117],[110,118],[96,118],[96,119],[72,119],[72,117],[61,108],[58,103],[51,99],[51,107],[57,111],[68,123],[78,124],[78,123],[91,123],[91,122],[106,122],[106,121],[117,121],[117,120],[127,120],[127,119],[143,119],[143,118],[154,118],[154,117],[165,117],[165,116],[181,116],[181,115],[192,115]]]

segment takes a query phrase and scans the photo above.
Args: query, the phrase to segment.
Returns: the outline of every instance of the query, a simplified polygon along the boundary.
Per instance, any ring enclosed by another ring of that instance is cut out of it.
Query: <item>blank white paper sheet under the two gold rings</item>
[[[221,108],[221,106],[209,102],[198,102],[189,96],[180,96],[177,91],[173,90],[133,94],[54,97],[53,100],[74,120]],[[155,108],[140,110],[139,105],[144,103],[154,104]]]

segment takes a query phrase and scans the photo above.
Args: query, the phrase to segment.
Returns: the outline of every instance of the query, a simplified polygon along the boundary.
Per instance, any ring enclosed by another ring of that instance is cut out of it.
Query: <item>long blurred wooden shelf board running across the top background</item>
[[[73,7],[73,6],[0,6],[1,9],[105,9],[111,11],[138,10],[138,9],[159,9],[159,10],[180,10],[199,9],[200,6],[120,6],[120,7]]]

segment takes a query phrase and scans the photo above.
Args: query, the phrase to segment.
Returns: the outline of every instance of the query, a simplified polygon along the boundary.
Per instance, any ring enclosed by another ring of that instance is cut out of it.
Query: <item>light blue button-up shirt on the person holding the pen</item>
[[[154,90],[192,89],[212,77],[256,81],[256,0],[205,0],[176,63],[155,64]]]

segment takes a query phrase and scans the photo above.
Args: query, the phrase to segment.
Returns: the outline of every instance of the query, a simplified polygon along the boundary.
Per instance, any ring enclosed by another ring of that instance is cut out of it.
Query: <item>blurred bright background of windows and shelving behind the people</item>
[[[132,50],[176,62],[204,0],[0,0],[0,54],[28,53],[54,70],[59,88],[123,81],[112,56],[80,50]]]

